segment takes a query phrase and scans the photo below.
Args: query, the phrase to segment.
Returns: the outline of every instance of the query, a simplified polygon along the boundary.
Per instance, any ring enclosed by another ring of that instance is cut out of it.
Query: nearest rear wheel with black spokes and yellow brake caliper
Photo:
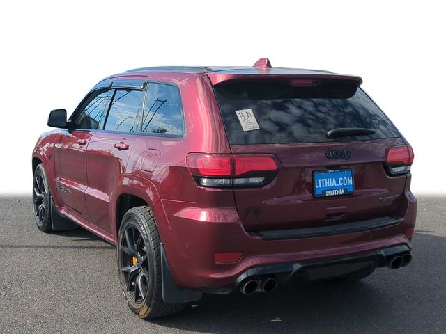
[[[118,275],[132,312],[141,319],[174,315],[186,303],[162,299],[160,236],[153,212],[134,207],[125,213],[118,234]]]

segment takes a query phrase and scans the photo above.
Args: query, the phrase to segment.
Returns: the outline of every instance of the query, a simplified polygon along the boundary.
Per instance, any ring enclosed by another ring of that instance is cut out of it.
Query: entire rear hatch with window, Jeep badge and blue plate
[[[246,230],[307,228],[397,212],[406,175],[390,176],[385,161],[388,148],[406,143],[359,84],[284,77],[215,84],[234,156],[277,158],[277,174],[268,184],[233,186]]]

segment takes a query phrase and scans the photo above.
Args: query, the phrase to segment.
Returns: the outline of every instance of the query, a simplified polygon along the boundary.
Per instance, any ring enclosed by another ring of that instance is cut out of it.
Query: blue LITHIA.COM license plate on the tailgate
[[[351,168],[314,170],[313,196],[333,197],[355,192],[355,177]]]

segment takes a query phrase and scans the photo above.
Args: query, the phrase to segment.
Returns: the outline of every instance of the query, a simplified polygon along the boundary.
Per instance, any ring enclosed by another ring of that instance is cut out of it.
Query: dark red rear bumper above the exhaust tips
[[[416,198],[407,191],[396,223],[359,232],[266,240],[258,233],[245,231],[235,208],[203,209],[192,203],[165,200],[154,208],[175,283],[179,287],[217,293],[220,290],[225,293],[248,273],[258,270],[289,273],[296,266],[305,268],[316,262],[371,255],[375,258],[371,265],[383,267],[385,249],[399,246],[410,252],[416,210]],[[214,252],[234,251],[243,252],[237,263],[213,262]]]

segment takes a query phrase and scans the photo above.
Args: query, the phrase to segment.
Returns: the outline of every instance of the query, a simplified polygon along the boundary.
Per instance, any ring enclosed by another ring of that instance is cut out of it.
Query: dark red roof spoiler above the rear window
[[[362,84],[362,78],[353,75],[344,74],[334,74],[334,73],[321,73],[321,74],[310,74],[310,73],[268,73],[268,70],[259,70],[259,73],[222,73],[222,72],[209,72],[208,77],[212,82],[213,86],[220,84],[223,81],[229,80],[255,80],[255,79],[321,79],[321,80],[339,80],[339,81],[351,81],[355,83],[358,87]]]

